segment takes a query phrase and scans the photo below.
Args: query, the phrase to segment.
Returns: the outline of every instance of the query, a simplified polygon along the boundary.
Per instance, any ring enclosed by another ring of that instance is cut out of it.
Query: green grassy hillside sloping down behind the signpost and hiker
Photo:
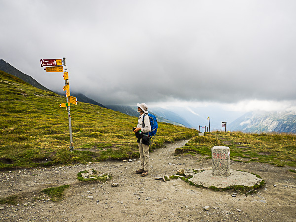
[[[62,81],[62,79],[61,79]],[[137,117],[96,105],[71,105],[74,151],[69,151],[66,98],[0,71],[0,169],[138,157]],[[159,123],[152,148],[191,138],[196,130]]]

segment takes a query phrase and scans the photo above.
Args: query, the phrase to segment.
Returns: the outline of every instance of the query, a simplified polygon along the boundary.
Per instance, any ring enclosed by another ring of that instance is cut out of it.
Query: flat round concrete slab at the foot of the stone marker
[[[262,178],[258,178],[254,174],[237,170],[230,170],[230,176],[228,177],[213,176],[212,170],[205,170],[194,174],[194,176],[189,179],[189,181],[195,185],[202,185],[208,188],[210,186],[215,186],[217,188],[227,188],[234,185],[254,186],[260,184],[262,180]]]

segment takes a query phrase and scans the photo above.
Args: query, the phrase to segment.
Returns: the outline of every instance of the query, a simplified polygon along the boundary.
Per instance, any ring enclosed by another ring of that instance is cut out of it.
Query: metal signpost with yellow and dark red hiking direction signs
[[[68,111],[68,122],[69,122],[69,132],[70,132],[70,150],[74,150],[72,141],[72,127],[71,127],[71,115],[70,115],[70,103],[77,105],[78,101],[76,97],[70,96],[69,87],[69,75],[68,68],[66,67],[66,58],[62,59],[40,59],[41,67],[45,66],[46,73],[48,72],[64,72],[65,86],[63,90],[66,91],[67,103],[61,103],[60,107],[66,107]]]

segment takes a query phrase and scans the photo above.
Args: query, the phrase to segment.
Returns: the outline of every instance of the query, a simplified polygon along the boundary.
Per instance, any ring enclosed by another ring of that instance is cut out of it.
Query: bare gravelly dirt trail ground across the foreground
[[[296,174],[289,172],[295,170],[291,167],[231,161],[231,169],[258,174],[266,182],[256,194],[247,196],[192,186],[181,179],[155,180],[180,168],[211,167],[211,159],[202,156],[174,156],[175,148],[186,142],[150,153],[147,177],[134,173],[139,169],[138,159],[1,172],[0,198],[23,198],[17,206],[1,205],[0,221],[296,221]],[[107,183],[79,182],[77,173],[87,167],[110,172],[113,178]],[[60,185],[70,185],[60,202],[40,194],[44,188]]]

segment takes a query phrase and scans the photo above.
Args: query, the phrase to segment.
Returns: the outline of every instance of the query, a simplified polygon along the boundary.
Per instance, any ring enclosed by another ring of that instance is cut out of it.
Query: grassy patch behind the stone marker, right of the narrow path
[[[224,144],[224,143],[227,143]],[[211,158],[213,146],[230,148],[230,159],[239,162],[269,163],[278,167],[296,166],[296,135],[287,133],[242,133],[220,131],[192,138],[177,154],[201,154]]]

